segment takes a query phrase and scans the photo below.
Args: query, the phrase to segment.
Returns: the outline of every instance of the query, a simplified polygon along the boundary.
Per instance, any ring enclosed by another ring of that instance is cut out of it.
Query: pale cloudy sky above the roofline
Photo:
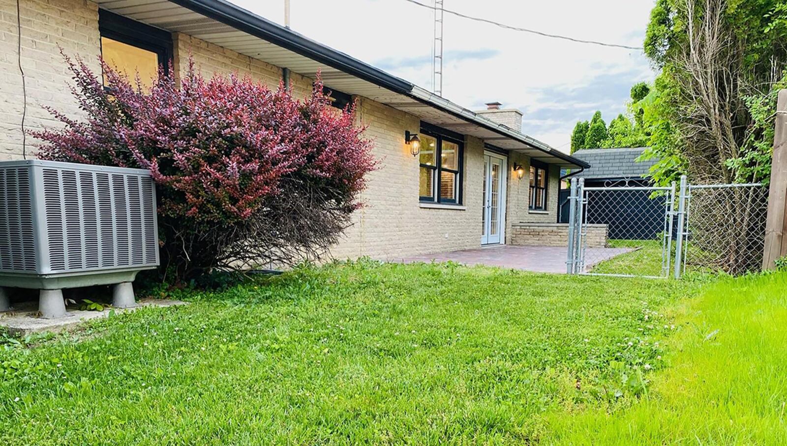
[[[432,0],[419,0],[431,4]],[[283,24],[283,0],[231,0]],[[431,89],[434,17],[405,0],[290,0],[291,28]],[[578,39],[641,46],[653,0],[445,0],[445,9]],[[571,130],[625,111],[654,73],[641,50],[548,39],[445,14],[443,96],[469,109],[500,101],[523,131],[568,151]]]

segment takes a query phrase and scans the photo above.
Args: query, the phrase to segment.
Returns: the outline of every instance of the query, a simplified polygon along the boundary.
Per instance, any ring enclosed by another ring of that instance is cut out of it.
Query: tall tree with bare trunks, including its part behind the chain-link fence
[[[661,71],[642,119],[651,135],[645,156],[658,160],[652,178],[661,185],[682,174],[694,183],[767,182],[776,91],[787,84],[787,4],[658,0],[644,46]],[[692,201],[693,215],[725,227],[712,238],[697,232],[692,243],[714,267],[758,268],[760,249],[741,241],[762,237],[753,223],[759,191],[728,192],[734,197]]]

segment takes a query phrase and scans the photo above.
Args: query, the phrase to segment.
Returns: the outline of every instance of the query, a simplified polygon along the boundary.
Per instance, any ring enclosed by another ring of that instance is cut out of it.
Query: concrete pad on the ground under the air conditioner
[[[16,304],[17,308],[11,311],[0,312],[0,326],[5,326],[12,334],[22,336],[44,331],[57,333],[87,320],[108,317],[111,310],[115,310],[115,314],[120,314],[143,307],[171,307],[172,305],[185,304],[188,302],[183,302],[183,300],[141,299],[136,307],[104,308],[104,311],[79,310],[77,305],[66,308],[68,312],[64,317],[43,319],[38,317],[37,302],[22,302]]]

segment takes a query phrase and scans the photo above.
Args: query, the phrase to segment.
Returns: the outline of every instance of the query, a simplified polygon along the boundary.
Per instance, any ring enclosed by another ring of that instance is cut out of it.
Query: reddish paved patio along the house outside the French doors
[[[588,248],[586,249],[586,259],[588,260],[586,267],[592,267],[604,260],[633,250],[633,248]],[[566,248],[563,246],[495,245],[462,251],[436,252],[401,259],[405,264],[432,260],[435,262],[451,260],[465,265],[487,265],[523,271],[566,272]]]

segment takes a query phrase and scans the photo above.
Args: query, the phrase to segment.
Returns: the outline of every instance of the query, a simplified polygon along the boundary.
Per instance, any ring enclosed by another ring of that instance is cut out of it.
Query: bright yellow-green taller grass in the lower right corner
[[[558,412],[545,444],[787,444],[787,273],[722,280],[676,311],[648,399]]]

